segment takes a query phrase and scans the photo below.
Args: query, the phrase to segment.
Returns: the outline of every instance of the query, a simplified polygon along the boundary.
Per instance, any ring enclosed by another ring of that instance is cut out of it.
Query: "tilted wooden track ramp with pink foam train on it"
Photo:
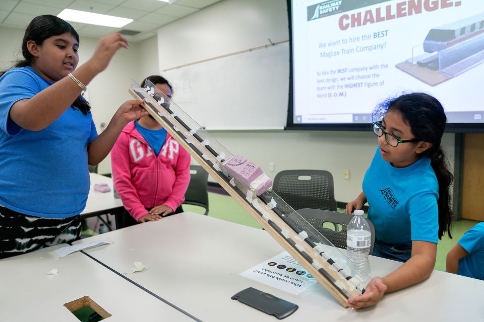
[[[231,154],[148,79],[145,88],[133,81],[130,93],[341,305],[365,291],[367,277],[351,276],[349,259],[269,189],[257,165]]]

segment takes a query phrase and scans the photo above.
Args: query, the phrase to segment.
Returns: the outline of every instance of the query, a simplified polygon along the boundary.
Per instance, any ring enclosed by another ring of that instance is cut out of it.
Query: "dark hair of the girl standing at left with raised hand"
[[[73,35],[79,43],[79,34],[68,22],[52,15],[42,15],[35,17],[27,26],[27,29],[25,29],[24,39],[22,40],[22,56],[24,57],[24,59],[19,60],[11,68],[31,66],[34,62],[34,57],[27,48],[28,41],[32,40],[38,46],[41,46],[45,39],[65,33],[70,33],[71,35]],[[0,77],[2,77],[2,75],[7,70],[0,72]],[[87,103],[87,101],[84,100],[81,95],[76,98],[72,105],[75,108],[78,108],[83,114],[87,114],[91,109],[89,103]]]

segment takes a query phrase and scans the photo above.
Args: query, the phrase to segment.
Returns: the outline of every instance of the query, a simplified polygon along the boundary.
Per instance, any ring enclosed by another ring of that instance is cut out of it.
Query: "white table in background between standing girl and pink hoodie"
[[[86,208],[81,212],[83,218],[97,216],[110,229],[110,225],[101,217],[103,214],[112,214],[115,216],[116,227],[119,227],[118,220],[123,216],[123,202],[119,198],[114,198],[112,179],[97,173],[89,173],[91,178],[91,187],[89,188],[89,195],[87,197]],[[109,188],[108,192],[100,192],[94,190],[94,185],[97,183],[106,183]]]

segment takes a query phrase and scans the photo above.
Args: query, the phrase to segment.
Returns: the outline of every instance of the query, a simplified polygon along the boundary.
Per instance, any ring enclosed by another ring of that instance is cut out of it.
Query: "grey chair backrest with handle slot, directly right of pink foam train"
[[[272,190],[294,210],[337,210],[333,176],[325,170],[281,171],[274,178]]]

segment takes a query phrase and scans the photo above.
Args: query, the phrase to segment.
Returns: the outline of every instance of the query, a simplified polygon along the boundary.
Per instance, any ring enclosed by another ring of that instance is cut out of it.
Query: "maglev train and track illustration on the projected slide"
[[[484,61],[484,13],[432,28],[423,53],[396,65],[435,86]]]

